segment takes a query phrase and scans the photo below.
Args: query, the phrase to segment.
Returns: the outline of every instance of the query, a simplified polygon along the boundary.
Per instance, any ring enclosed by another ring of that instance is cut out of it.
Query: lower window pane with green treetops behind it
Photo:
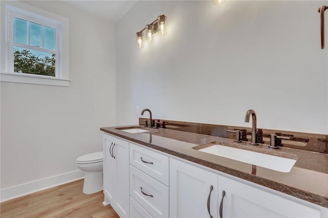
[[[55,54],[14,46],[14,72],[55,75]]]

